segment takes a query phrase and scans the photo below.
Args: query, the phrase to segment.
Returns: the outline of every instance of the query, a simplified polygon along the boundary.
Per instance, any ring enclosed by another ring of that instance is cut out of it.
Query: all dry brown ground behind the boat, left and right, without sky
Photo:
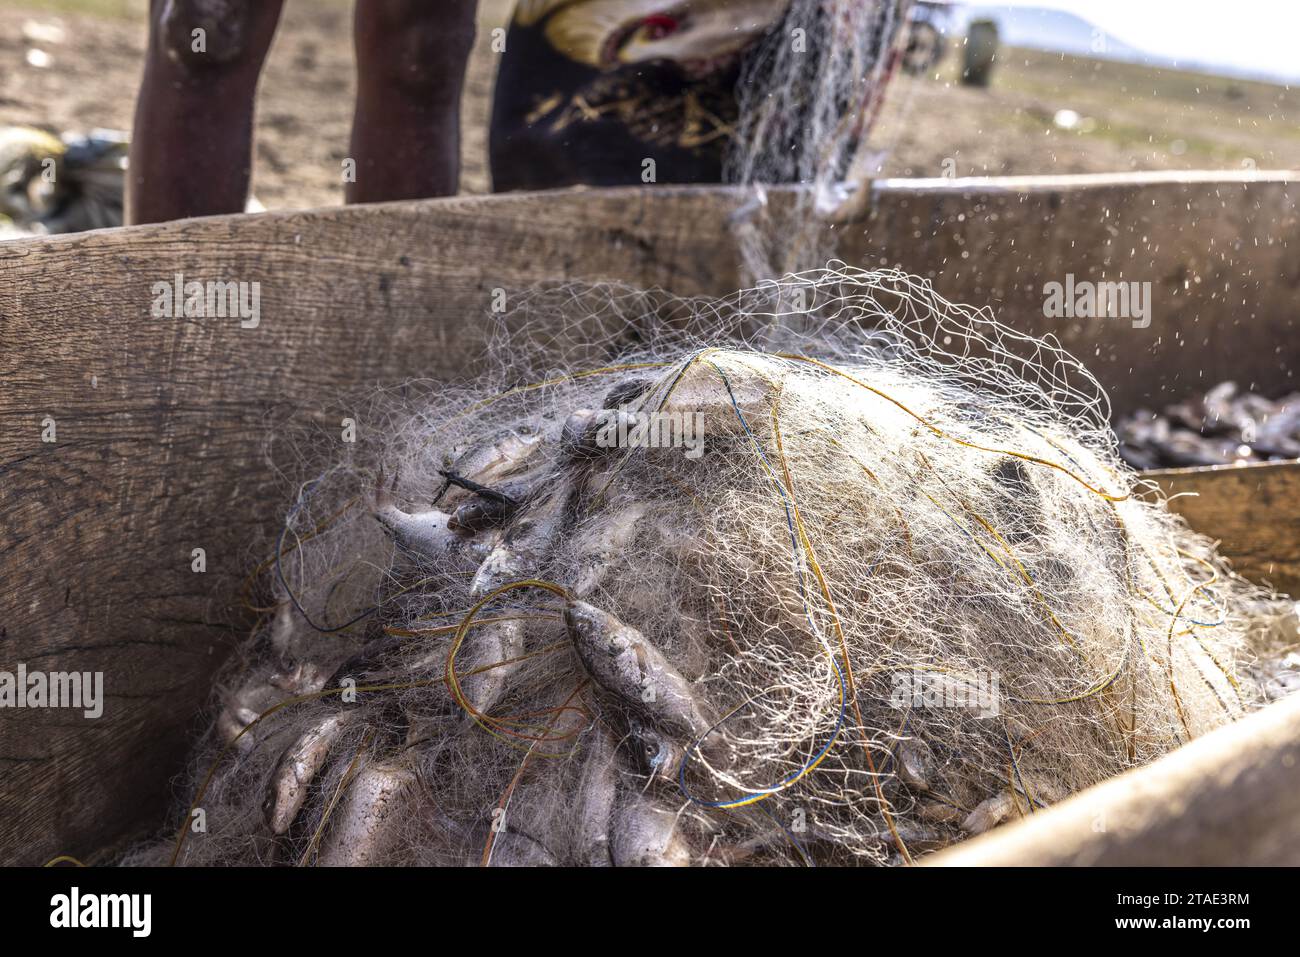
[[[511,0],[481,0],[465,91],[462,187],[490,189],[489,30]],[[0,124],[129,129],[144,0],[5,0]],[[52,42],[48,30],[61,27]],[[290,0],[263,78],[254,190],[268,207],[341,202],[352,103],[351,4]],[[39,51],[32,55],[31,51]],[[1300,91],[1192,73],[1006,51],[992,86],[957,83],[961,49],[892,86],[875,146],[884,176],[1300,168]],[[1072,130],[1054,122],[1074,111]]]

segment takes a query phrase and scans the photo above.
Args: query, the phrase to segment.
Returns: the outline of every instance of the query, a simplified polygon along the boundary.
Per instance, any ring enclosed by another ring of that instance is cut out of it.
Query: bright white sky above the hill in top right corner
[[[1300,81],[1300,0],[975,0],[1065,10],[1179,65]]]

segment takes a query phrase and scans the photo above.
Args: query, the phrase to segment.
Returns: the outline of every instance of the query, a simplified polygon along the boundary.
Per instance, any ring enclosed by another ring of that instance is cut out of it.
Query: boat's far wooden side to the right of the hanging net
[[[1296,174],[884,181],[845,247],[850,261],[926,276],[950,300],[1058,337],[1118,412],[1228,378],[1266,395],[1296,387]],[[1044,285],[1067,274],[1150,282],[1150,325],[1044,316]]]

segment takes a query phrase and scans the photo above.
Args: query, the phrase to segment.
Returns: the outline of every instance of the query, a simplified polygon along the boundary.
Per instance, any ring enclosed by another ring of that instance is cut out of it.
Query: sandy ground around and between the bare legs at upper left
[[[109,16],[66,9],[73,5],[87,4],[6,0],[0,9],[0,125],[130,129],[143,69],[146,4],[103,0]],[[504,22],[510,4],[484,0],[481,8],[490,29]],[[254,194],[266,207],[342,202],[341,163],[355,88],[351,16],[346,0],[286,4],[257,99]],[[29,39],[29,22],[60,26],[62,42]],[[468,192],[490,186],[488,112],[495,56],[488,39],[488,29],[481,29],[465,85],[462,189]],[[32,48],[49,57],[48,66],[29,62]]]

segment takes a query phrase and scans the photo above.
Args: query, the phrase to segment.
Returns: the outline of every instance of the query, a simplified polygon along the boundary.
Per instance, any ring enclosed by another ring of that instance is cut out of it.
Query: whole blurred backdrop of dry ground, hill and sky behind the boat
[[[462,190],[486,192],[497,57],[512,0],[480,0]],[[4,0],[0,127],[130,129],[147,0]],[[1292,0],[916,3],[872,131],[885,177],[1300,168]],[[259,96],[254,194],[342,202],[351,3],[286,4]],[[125,135],[125,134],[124,134]]]

